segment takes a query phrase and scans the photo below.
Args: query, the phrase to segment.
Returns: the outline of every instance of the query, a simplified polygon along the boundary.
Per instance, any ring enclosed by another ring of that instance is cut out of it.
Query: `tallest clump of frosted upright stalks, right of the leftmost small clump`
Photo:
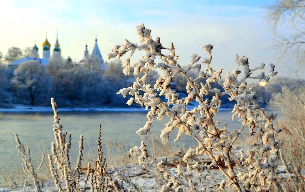
[[[107,172],[107,164],[106,159],[103,158],[102,152],[102,142],[101,142],[101,125],[99,126],[99,138],[98,138],[98,148],[97,148],[97,160],[95,161],[95,166],[93,172],[90,172],[90,162],[88,163],[88,169],[84,176],[83,186],[80,186],[80,178],[81,178],[81,163],[83,160],[84,153],[84,137],[80,136],[79,141],[79,151],[78,158],[76,162],[76,166],[74,169],[71,168],[71,159],[70,159],[70,149],[71,149],[71,134],[69,134],[69,138],[66,132],[62,132],[62,125],[59,124],[59,116],[57,112],[57,106],[54,98],[51,98],[52,108],[54,110],[54,136],[55,141],[52,142],[52,155],[54,158],[54,162],[52,160],[52,156],[49,155],[49,166],[52,177],[54,179],[54,183],[56,188],[59,191],[66,192],[79,192],[86,191],[87,182],[90,176],[90,190],[96,192],[106,192],[109,190],[108,182],[110,181],[111,186],[116,191],[124,191],[124,187],[122,182],[119,182],[113,179]],[[54,163],[57,164],[57,169],[54,166]],[[59,170],[57,172],[57,170]],[[106,179],[105,179],[106,178]],[[64,182],[64,187],[61,183]]]

